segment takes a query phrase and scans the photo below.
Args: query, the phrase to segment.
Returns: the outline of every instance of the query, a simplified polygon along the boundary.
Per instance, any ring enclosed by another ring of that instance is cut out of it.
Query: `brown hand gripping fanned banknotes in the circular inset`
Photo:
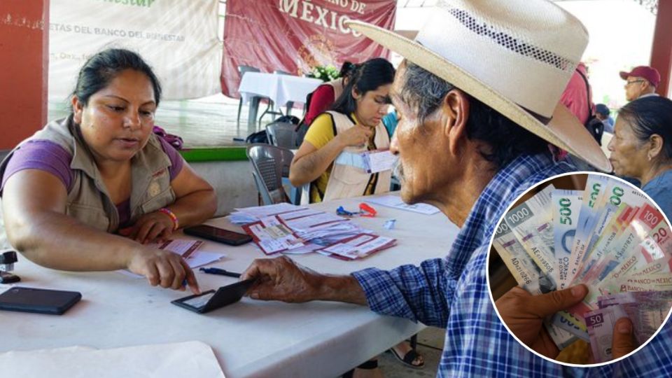
[[[531,295],[516,286],[502,295],[495,305],[504,323],[521,342],[543,356],[556,358],[560,350],[543,326],[543,321],[547,316],[581,302],[587,293],[584,285],[541,295]],[[632,323],[627,318],[620,318],[614,329],[613,356],[625,356],[634,349]]]

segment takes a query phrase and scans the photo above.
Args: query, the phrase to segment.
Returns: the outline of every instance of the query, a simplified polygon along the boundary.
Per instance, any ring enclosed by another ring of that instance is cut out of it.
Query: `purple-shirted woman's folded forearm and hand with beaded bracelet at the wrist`
[[[166,208],[176,216],[181,228],[199,225],[215,214],[217,197],[210,184],[184,163],[179,174],[170,182],[176,200]],[[128,230],[131,239],[147,243],[167,239],[174,231],[172,218],[161,211],[144,214]]]

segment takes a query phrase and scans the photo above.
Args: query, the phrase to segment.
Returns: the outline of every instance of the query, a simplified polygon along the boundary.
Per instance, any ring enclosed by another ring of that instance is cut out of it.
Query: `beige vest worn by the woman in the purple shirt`
[[[55,120],[22,141],[0,164],[0,179],[7,162],[27,141],[47,140],[62,146],[72,155],[70,169],[73,181],[68,193],[66,214],[97,230],[116,232],[119,214],[102,181],[101,174],[80,133],[70,118]],[[170,186],[168,155],[160,141],[151,134],[146,146],[131,160],[131,218],[134,222],[143,214],[172,204],[175,193]],[[2,230],[4,232],[4,230]]]

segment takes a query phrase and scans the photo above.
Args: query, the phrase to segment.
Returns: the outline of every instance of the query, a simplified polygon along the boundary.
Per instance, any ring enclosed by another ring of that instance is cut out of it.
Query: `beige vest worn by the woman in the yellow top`
[[[328,111],[334,121],[334,135],[344,132],[355,123],[346,115],[335,111]],[[390,148],[390,137],[383,123],[376,126],[376,135],[374,137],[374,147],[385,150]],[[346,147],[343,152],[363,153],[367,151],[366,146]],[[369,174],[363,169],[352,167],[350,165],[332,164],[327,188],[322,197],[322,201],[337,200],[339,198],[350,198],[364,195],[366,187],[371,180],[375,180],[374,193],[386,193],[390,190],[391,171]]]

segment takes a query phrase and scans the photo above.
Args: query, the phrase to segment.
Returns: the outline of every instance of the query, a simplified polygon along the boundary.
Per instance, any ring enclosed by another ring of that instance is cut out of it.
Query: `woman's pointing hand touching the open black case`
[[[181,255],[148,246],[138,246],[132,251],[127,268],[147,277],[151,286],[185,290],[183,282],[194,294],[200,294],[196,276]]]

